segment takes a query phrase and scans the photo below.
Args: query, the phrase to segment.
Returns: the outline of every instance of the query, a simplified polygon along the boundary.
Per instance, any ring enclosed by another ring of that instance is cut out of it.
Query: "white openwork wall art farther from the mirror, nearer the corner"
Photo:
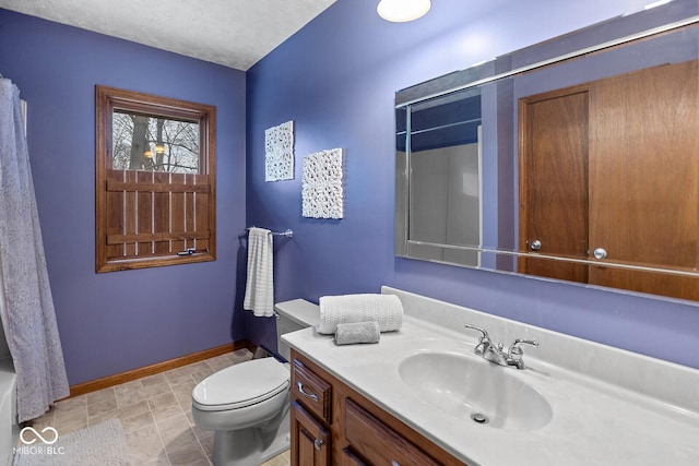
[[[264,181],[294,179],[294,121],[264,130]]]

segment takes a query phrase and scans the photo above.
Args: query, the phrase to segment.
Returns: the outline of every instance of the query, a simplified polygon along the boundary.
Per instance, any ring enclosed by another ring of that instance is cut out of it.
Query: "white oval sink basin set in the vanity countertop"
[[[536,430],[553,410],[532,386],[514,377],[514,368],[476,356],[419,353],[403,359],[401,379],[428,405],[485,428]]]

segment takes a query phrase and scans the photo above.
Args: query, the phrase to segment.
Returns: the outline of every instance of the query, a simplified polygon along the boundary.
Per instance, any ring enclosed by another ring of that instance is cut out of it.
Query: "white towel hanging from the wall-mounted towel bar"
[[[250,228],[248,232],[248,279],[242,308],[258,318],[274,314],[274,278],[272,232]]]

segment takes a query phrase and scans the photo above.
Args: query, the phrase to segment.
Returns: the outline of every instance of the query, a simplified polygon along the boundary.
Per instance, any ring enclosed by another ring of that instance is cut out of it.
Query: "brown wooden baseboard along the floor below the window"
[[[242,349],[242,348],[247,348],[251,353],[254,353],[254,350],[257,349],[257,346],[254,346],[248,339],[244,339],[240,342],[226,343],[225,345],[204,349],[203,351],[192,353],[190,355],[180,356],[179,358],[169,359],[167,361],[156,362],[151,366],[131,369],[129,371],[120,372],[114,375],[107,375],[102,379],[79,383],[76,385],[71,385],[70,395],[63,399],[84,395],[91,392],[96,392],[103,389],[108,389],[110,386],[119,385],[126,382],[131,382],[144,377],[155,375],[161,372],[166,372],[171,369],[181,368],[182,366],[192,365],[194,362],[203,361],[205,359],[214,358],[216,356],[225,355],[226,353],[235,351],[237,349]]]

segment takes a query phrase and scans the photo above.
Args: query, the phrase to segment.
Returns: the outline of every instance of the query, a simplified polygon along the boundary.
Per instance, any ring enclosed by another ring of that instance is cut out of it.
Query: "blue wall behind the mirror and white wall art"
[[[248,71],[247,218],[293,228],[276,247],[276,300],[376,292],[387,284],[699,368],[699,308],[393,255],[393,95],[648,0],[440,0],[419,21],[383,22],[374,0],[339,0]],[[296,178],[264,182],[264,130],[295,121]],[[300,215],[301,159],[344,147],[345,218]],[[248,319],[273,346],[271,322]]]

